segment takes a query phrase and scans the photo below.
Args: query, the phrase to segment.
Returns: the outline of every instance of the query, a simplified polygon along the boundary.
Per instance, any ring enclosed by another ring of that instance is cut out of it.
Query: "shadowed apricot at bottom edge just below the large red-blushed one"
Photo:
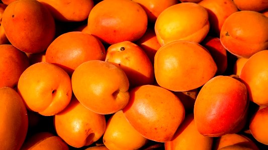
[[[225,134],[214,140],[214,149],[220,149],[229,145],[240,145],[258,150],[257,145],[248,137],[242,134]]]

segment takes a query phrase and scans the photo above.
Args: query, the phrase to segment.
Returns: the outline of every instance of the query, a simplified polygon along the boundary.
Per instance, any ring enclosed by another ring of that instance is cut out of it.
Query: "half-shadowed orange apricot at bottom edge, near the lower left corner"
[[[68,145],[57,135],[50,132],[38,132],[30,136],[23,144],[21,150],[68,150]]]

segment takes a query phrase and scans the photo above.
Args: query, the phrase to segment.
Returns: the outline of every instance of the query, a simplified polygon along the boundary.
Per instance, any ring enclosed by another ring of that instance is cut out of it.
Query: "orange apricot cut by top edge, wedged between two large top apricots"
[[[159,14],[167,7],[177,4],[177,0],[133,0],[139,3],[145,10],[148,20],[155,22]]]

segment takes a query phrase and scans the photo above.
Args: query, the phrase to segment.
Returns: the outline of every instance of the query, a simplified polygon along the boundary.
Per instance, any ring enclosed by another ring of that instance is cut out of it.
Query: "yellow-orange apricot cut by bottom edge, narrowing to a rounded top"
[[[147,142],[126,119],[122,110],[108,120],[103,142],[109,149],[139,149]]]

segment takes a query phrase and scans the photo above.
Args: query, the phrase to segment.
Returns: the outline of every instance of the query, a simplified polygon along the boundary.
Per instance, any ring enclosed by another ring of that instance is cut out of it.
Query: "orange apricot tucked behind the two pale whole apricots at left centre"
[[[68,74],[82,62],[104,60],[105,48],[95,36],[71,31],[54,39],[46,50],[46,61],[62,67]]]

